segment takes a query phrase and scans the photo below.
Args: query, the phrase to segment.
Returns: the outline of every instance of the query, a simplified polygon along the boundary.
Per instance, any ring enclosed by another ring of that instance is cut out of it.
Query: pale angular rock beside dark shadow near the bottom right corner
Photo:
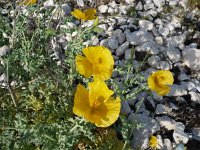
[[[184,133],[184,131],[174,130],[173,138],[176,144],[183,143],[186,144],[189,140],[189,135]]]

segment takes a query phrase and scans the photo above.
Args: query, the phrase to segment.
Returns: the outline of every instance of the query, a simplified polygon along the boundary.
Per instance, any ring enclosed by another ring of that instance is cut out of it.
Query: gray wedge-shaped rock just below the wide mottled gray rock
[[[159,52],[156,43],[153,41],[145,42],[135,47],[135,50],[138,52],[147,52],[149,54],[158,54]]]

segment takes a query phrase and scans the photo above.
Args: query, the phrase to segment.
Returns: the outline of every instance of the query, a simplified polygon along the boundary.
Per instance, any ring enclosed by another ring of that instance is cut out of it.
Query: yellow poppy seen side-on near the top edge
[[[72,16],[74,16],[77,19],[81,20],[93,20],[96,18],[96,10],[94,8],[89,8],[86,11],[82,12],[80,9],[74,9],[73,12],[71,12]]]

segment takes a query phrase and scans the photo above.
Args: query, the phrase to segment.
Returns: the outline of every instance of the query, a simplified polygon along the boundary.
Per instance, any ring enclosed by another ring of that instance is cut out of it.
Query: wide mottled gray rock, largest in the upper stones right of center
[[[132,45],[140,45],[144,42],[153,41],[153,35],[147,31],[139,30],[133,33],[126,33],[126,39]]]

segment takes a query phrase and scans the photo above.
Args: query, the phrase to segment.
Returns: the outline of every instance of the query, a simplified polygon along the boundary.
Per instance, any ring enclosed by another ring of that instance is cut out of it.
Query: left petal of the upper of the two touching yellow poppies
[[[76,56],[76,67],[81,75],[89,78],[92,75],[92,64],[83,56]]]

